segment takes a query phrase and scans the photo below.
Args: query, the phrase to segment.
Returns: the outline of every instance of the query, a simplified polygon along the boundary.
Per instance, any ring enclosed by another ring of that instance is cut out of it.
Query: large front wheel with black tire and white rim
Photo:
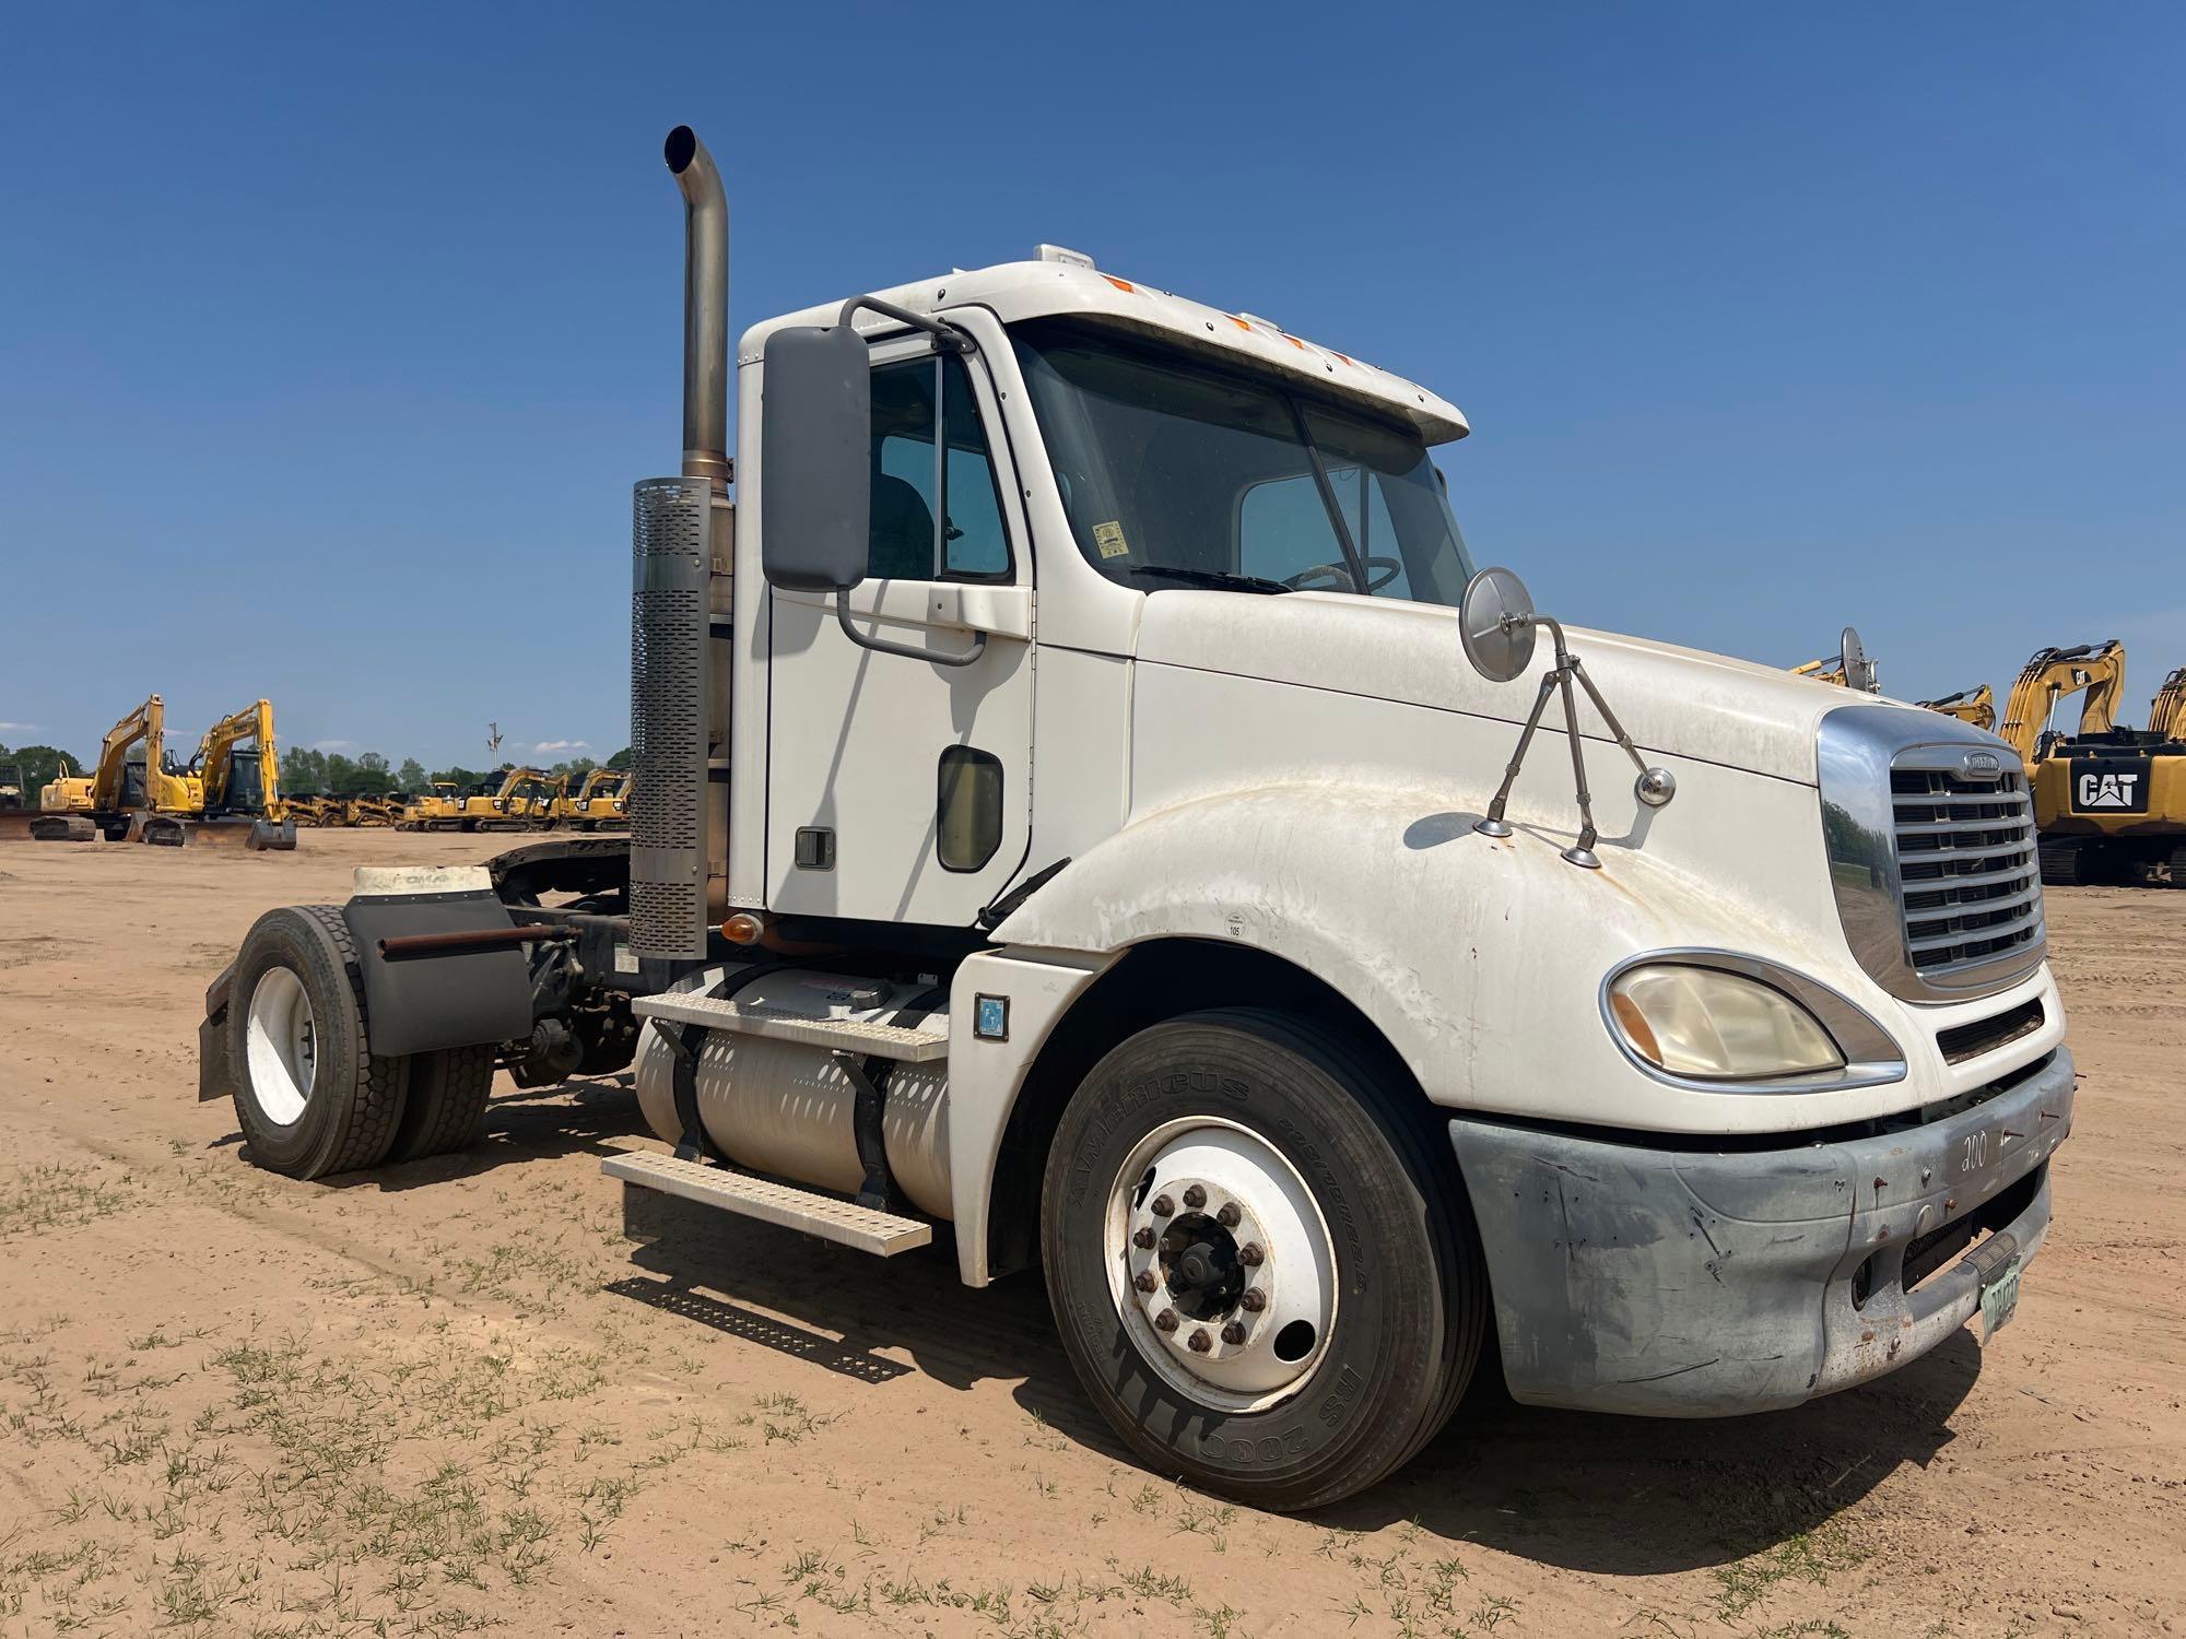
[[[1139,1458],[1316,1508],[1447,1420],[1486,1329],[1456,1167],[1364,1053],[1279,1014],[1191,1014],[1086,1077],[1047,1160],[1062,1344]]]

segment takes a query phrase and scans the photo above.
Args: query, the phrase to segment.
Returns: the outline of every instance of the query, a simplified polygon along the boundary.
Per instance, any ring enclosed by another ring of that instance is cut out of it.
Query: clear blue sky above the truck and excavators
[[[2186,664],[2186,9],[17,7],[0,741],[625,739],[680,208],[732,323],[1038,240],[1430,382],[1567,621]],[[1456,656],[1454,656],[1456,662]],[[551,752],[549,752],[551,756]]]

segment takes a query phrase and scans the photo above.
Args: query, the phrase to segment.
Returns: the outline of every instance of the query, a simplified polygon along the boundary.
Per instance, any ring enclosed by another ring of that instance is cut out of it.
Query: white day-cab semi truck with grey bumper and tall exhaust
[[[728,210],[667,164],[632,833],[260,918],[201,1029],[258,1165],[634,1062],[634,1235],[951,1224],[1266,1508],[1482,1372],[1720,1416],[2009,1318],[2075,1077],[2002,741],[1565,634],[1467,557],[1456,406],[1054,247],[748,330],[730,461]]]

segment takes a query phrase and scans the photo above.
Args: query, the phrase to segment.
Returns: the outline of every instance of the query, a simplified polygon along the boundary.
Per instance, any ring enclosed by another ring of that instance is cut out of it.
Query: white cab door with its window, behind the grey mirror
[[[868,579],[767,588],[767,905],[968,927],[1032,828],[1021,490],[977,352],[916,337],[870,361]],[[918,653],[853,640],[837,597],[859,634]]]

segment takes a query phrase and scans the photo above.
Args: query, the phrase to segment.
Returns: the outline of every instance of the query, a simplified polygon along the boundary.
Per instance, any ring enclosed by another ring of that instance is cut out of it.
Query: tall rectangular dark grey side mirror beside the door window
[[[872,365],[846,323],[767,337],[759,428],[759,564],[785,592],[866,579],[872,531]]]

